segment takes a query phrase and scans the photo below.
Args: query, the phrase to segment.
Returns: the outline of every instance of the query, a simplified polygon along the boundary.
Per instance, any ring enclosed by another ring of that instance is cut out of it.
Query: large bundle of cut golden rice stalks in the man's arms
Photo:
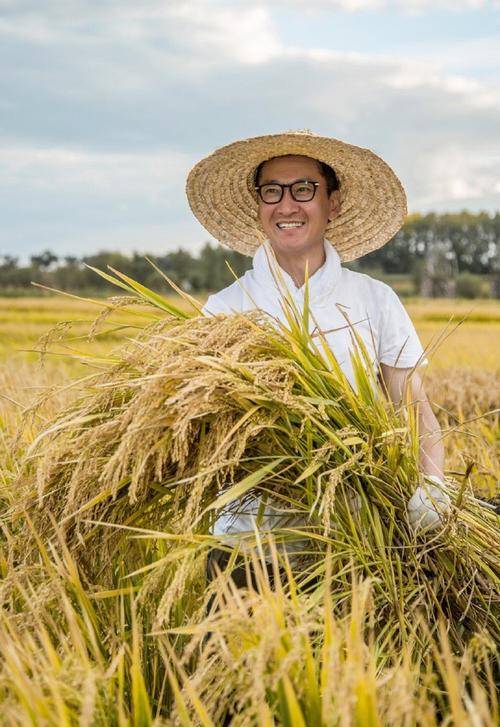
[[[321,598],[331,569],[342,615],[353,581],[370,579],[388,659],[410,640],[423,652],[440,619],[454,649],[478,630],[497,642],[497,516],[450,483],[447,526],[413,534],[413,409],[388,403],[362,349],[354,389],[307,315],[291,310],[283,327],[170,310],[87,377],[28,453],[8,525],[16,572],[39,557],[29,513],[42,542],[63,539],[91,591],[131,585],[156,628],[186,625],[206,604],[207,553],[234,545],[211,534],[215,518],[260,498],[260,512],[283,514],[273,534],[294,552],[299,587]],[[239,547],[254,541],[250,531]]]

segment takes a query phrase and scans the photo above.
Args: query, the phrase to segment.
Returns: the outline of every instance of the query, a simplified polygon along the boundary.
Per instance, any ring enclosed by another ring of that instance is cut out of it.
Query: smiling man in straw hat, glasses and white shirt
[[[439,527],[449,498],[440,487],[441,432],[416,372],[427,363],[422,346],[391,288],[340,264],[381,247],[403,224],[406,197],[392,169],[367,149],[287,132],[217,150],[191,171],[187,194],[214,237],[254,255],[251,271],[209,297],[206,314],[259,308],[285,321],[283,298],[302,309],[307,276],[311,325],[319,326],[351,384],[350,352],[359,336],[391,400],[400,403],[409,388],[422,474],[408,502],[409,521],[415,530]],[[215,532],[249,524],[248,517],[228,514]],[[265,524],[272,527],[273,518]]]

